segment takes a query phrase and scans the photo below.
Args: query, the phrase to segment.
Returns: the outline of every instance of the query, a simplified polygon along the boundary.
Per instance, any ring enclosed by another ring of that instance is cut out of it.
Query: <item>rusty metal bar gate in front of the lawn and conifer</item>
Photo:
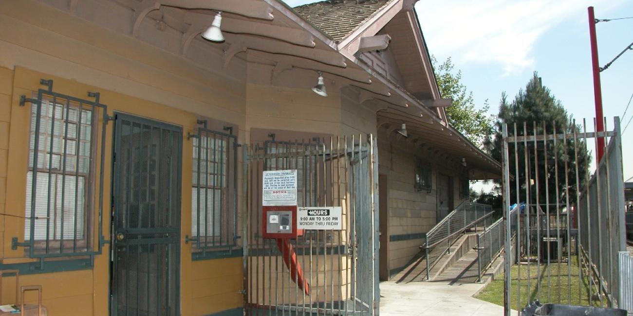
[[[617,307],[625,205],[620,121],[614,122],[605,132],[595,131],[595,120],[589,132],[586,121],[503,125],[506,315],[534,300]],[[587,145],[598,146],[597,137],[608,142],[590,174]],[[511,215],[514,202],[525,210]],[[518,264],[510,260],[514,225]]]

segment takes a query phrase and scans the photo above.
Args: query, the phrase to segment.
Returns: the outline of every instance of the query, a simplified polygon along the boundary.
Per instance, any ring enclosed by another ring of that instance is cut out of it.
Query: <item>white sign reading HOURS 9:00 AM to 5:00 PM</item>
[[[297,212],[297,229],[342,229],[342,210],[334,207],[299,207]]]

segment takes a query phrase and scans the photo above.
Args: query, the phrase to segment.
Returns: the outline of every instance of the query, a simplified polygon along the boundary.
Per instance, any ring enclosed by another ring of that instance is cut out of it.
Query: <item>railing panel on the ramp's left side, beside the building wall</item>
[[[461,233],[470,228],[486,227],[492,222],[492,207],[487,204],[463,202],[450,212],[427,233],[424,245],[427,264],[427,280],[430,277],[430,269],[439,261]],[[444,251],[436,252],[436,257],[429,257],[431,248],[444,247]]]

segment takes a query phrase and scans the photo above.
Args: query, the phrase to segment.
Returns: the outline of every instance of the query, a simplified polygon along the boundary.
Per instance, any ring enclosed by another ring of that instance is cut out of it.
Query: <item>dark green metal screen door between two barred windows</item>
[[[179,315],[182,129],[115,114],[111,315]]]

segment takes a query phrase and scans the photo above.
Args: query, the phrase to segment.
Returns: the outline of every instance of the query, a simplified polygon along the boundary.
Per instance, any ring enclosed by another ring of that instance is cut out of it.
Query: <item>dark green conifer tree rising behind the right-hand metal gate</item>
[[[532,78],[525,86],[525,90],[520,90],[514,100],[509,101],[505,93],[501,95],[499,106],[499,116],[496,122],[494,140],[487,143],[487,148],[495,159],[501,161],[502,154],[502,127],[504,124],[508,126],[508,135],[515,135],[515,123],[517,125],[516,135],[534,135],[536,122],[536,135],[544,133],[552,134],[556,131],[560,133],[580,133],[580,126],[575,124],[573,118],[567,113],[560,100],[557,100],[551,93],[549,88],[542,85],[536,71]],[[523,131],[523,123],[526,124]],[[556,129],[556,130],[555,130]],[[567,162],[567,179],[569,180],[569,200],[570,203],[575,201],[577,194],[577,185],[575,183],[576,159],[574,145],[578,150],[578,170],[580,179],[580,188],[584,186],[587,173],[589,172],[589,162],[591,157],[587,154],[587,147],[584,140],[578,140],[574,144],[573,139],[567,139],[567,143],[563,140],[557,140],[556,146],[553,140],[544,143],[542,140],[536,142],[536,160],[534,159],[535,143],[528,142],[527,147],[520,143],[517,146],[518,157],[518,173],[515,165],[515,147],[513,143],[509,144],[508,155],[510,157],[510,200],[515,201],[517,198],[517,183],[519,185],[519,202],[527,200],[525,194],[525,186],[529,186],[531,203],[536,202],[536,184],[539,185],[539,203],[544,204],[546,197],[549,197],[549,203],[555,204],[556,200],[565,205],[566,202],[566,178],[565,178],[565,162]],[[527,169],[529,176],[525,173],[525,149],[528,150]],[[538,164],[538,168],[535,165]],[[547,166],[547,167],[546,167]],[[556,167],[558,167],[558,181],[556,179]],[[538,171],[538,183],[536,183]],[[527,183],[526,183],[527,178]],[[534,181],[534,184],[532,183]],[[546,182],[547,181],[547,182]],[[556,196],[556,183],[558,183],[558,196]],[[546,190],[546,185],[549,190]]]

